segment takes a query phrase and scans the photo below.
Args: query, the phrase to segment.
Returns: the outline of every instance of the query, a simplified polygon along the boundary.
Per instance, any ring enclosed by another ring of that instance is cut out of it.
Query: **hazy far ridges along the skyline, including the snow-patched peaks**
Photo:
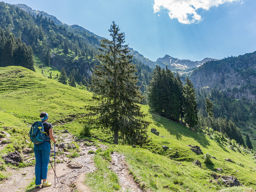
[[[94,33],[92,33],[91,31],[79,26],[79,25],[67,25],[63,22],[61,22],[59,19],[57,19],[55,16],[53,15],[49,15],[48,13],[44,12],[44,11],[39,11],[39,10],[33,10],[31,7],[25,5],[25,4],[16,4],[16,6],[20,7],[21,9],[25,10],[26,12],[29,12],[35,16],[38,15],[42,15],[43,17],[47,17],[50,18],[51,20],[53,20],[55,22],[56,25],[63,25],[67,28],[67,30],[69,31],[73,31],[73,30],[80,30],[80,31],[86,31],[86,33],[90,34],[90,35],[94,35],[99,39],[102,39],[103,37],[100,37]],[[133,54],[133,56],[138,59],[139,61],[143,62],[145,65],[148,65],[152,68],[154,68],[156,65],[159,65],[163,68],[167,67],[172,70],[172,71],[183,71],[189,68],[194,68],[194,67],[198,67],[201,66],[202,64],[206,63],[207,61],[211,61],[214,60],[216,61],[217,59],[212,59],[212,58],[205,58],[202,61],[190,61],[188,59],[185,60],[180,60],[177,58],[173,58],[170,57],[169,55],[165,55],[163,58],[158,58],[155,62],[151,61],[147,58],[145,58],[142,54],[140,54],[138,51],[133,50],[132,48],[129,48],[131,53]]]

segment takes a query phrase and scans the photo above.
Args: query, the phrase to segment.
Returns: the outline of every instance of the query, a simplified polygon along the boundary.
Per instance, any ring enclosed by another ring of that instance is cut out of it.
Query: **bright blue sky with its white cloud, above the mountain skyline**
[[[109,38],[108,29],[114,20],[125,33],[129,47],[152,61],[166,54],[200,61],[205,57],[221,59],[256,50],[255,0],[6,0],[5,3],[26,4],[105,38]]]

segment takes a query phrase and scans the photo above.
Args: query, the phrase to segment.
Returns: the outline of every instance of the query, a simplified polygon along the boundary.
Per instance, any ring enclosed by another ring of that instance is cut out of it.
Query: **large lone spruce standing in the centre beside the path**
[[[88,108],[94,112],[89,120],[94,125],[110,130],[114,134],[114,144],[119,135],[123,143],[142,145],[146,141],[148,122],[137,104],[141,99],[136,86],[135,66],[129,55],[124,33],[112,22],[109,29],[112,40],[102,39],[100,63],[95,65],[92,75],[93,100],[97,105]]]

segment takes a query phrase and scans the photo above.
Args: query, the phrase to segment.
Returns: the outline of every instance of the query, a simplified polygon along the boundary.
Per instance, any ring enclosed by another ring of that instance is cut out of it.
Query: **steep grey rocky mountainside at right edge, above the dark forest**
[[[245,97],[256,101],[256,52],[210,61],[194,70],[190,76],[194,87],[216,87],[235,99]],[[246,75],[245,75],[246,74]]]

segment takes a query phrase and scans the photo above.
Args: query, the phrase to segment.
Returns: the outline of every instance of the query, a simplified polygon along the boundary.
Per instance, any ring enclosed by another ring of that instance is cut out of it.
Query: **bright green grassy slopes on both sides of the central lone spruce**
[[[82,127],[79,120],[86,113],[84,106],[90,104],[92,93],[48,79],[40,71],[35,73],[13,66],[0,68],[0,85],[0,131],[11,135],[11,143],[1,154],[27,147],[25,140],[28,139],[30,125],[39,120],[41,111],[48,112],[49,122],[55,126],[55,131],[68,129],[79,136]],[[153,114],[147,105],[142,105],[142,110],[147,114],[147,121],[151,122],[148,144],[143,148],[112,145],[108,143],[112,140],[111,135],[102,130],[92,130],[93,135],[97,135],[109,148],[125,155],[130,172],[141,187],[152,191],[218,191],[226,188],[221,181],[220,186],[213,179],[215,172],[233,175],[241,184],[256,189],[256,163],[252,153],[236,143],[221,139],[219,135],[194,132]],[[151,133],[152,128],[159,131],[159,136]],[[162,145],[169,146],[169,149],[164,150]],[[204,155],[196,155],[187,145],[198,145],[204,154],[209,153],[216,159],[211,158],[212,163],[206,164]],[[235,163],[226,162],[225,158]],[[195,159],[201,162],[202,168],[193,165]],[[216,171],[216,168],[223,172]]]

